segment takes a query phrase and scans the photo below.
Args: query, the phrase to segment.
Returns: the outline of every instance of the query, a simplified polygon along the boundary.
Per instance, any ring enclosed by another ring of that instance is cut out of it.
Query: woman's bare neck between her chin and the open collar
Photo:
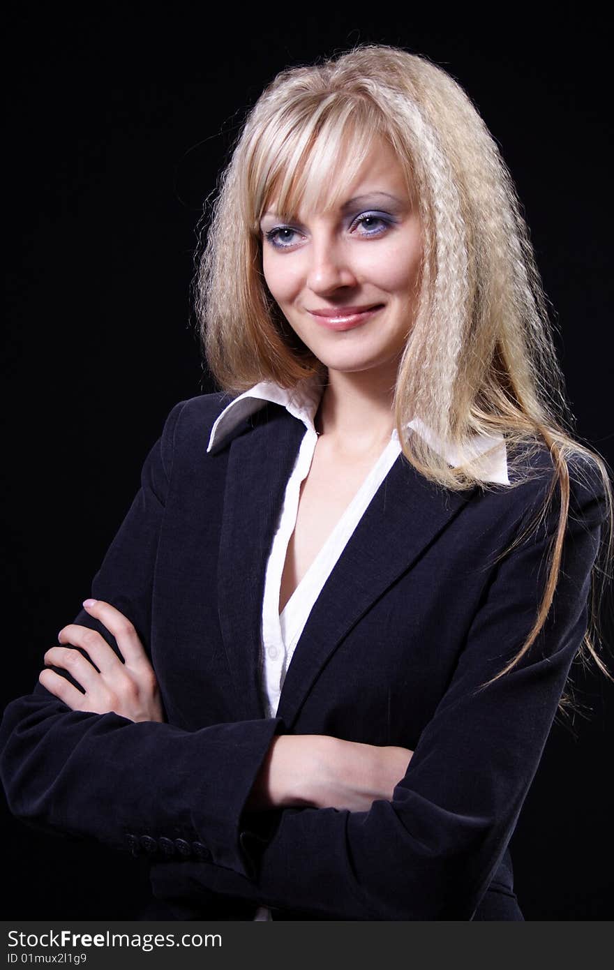
[[[316,428],[331,443],[347,450],[369,451],[381,446],[395,427],[396,370],[329,371]]]

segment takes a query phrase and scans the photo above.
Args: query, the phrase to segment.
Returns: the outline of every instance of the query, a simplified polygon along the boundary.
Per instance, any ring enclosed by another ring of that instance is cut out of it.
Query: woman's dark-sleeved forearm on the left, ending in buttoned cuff
[[[240,819],[279,719],[186,731],[69,711],[46,695],[13,701],[0,725],[0,777],[17,817],[118,850],[179,838],[249,871]]]

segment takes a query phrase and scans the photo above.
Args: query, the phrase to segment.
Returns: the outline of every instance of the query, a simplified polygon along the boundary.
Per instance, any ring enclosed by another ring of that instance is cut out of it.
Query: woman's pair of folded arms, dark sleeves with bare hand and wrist
[[[211,861],[155,866],[161,898],[178,886],[198,896],[202,887],[325,919],[471,919],[516,824],[586,629],[603,496],[574,481],[560,582],[543,635],[522,663],[479,693],[531,629],[556,517],[494,570],[414,753],[288,735],[280,718],[187,731],[152,720],[163,712],[135,632],[150,629],[151,576],[181,407],[145,461],[142,489],[92,583],[98,606],[84,607],[83,621],[94,630],[64,628],[62,645],[46,655],[84,694],[48,671],[40,689],[7,708],[0,776],[12,811],[114,848],[126,848],[127,833],[146,833],[180,836],[188,850],[188,843],[206,850]],[[132,629],[120,612],[124,604]],[[109,634],[125,663],[115,656],[112,666],[104,649],[114,656]],[[121,706],[127,700],[131,713]],[[98,706],[87,706],[93,702]],[[246,807],[258,809],[248,820],[241,818]],[[263,822],[262,840],[250,832],[255,817]]]

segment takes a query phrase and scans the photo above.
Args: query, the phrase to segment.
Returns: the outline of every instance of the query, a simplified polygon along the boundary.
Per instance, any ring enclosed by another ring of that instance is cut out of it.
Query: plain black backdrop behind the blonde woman
[[[10,13],[2,706],[32,690],[57,630],[89,596],[169,410],[211,390],[190,310],[196,227],[244,112],[286,66],[392,44],[468,91],[524,204],[577,433],[612,464],[605,34],[566,5],[543,24],[529,7],[498,25],[490,7],[470,10]],[[576,719],[576,737],[553,728],[511,845],[528,920],[614,911],[614,691],[579,668],[575,683],[590,716]],[[140,861],[37,832],[4,803],[2,824],[7,918],[134,915]]]

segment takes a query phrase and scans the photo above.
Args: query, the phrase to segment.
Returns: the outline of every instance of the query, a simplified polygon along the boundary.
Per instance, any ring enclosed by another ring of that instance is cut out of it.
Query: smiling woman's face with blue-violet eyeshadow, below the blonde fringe
[[[329,371],[395,369],[411,330],[421,226],[395,153],[373,143],[334,210],[260,223],[263,271],[286,320]]]

